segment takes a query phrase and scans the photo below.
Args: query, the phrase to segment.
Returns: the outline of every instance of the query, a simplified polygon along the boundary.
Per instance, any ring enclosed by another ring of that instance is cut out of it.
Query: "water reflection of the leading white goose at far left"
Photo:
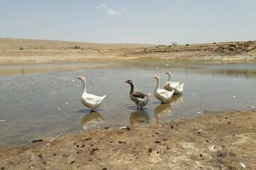
[[[103,117],[100,113],[97,111],[88,113],[85,115],[81,120],[81,125],[84,130],[90,129],[92,127],[95,127],[96,125],[99,125],[103,122]]]

